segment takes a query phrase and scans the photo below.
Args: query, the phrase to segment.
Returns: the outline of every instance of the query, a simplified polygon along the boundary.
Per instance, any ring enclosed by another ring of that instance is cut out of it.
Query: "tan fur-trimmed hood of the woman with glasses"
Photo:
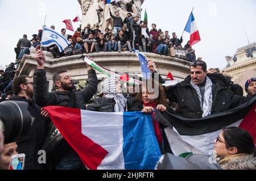
[[[219,161],[224,170],[256,170],[254,154],[237,154],[225,157]]]

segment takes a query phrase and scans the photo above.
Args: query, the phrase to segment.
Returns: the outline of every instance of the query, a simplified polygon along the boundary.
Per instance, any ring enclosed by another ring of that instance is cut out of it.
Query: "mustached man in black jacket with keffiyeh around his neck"
[[[168,90],[170,102],[179,104],[179,115],[199,119],[228,111],[250,100],[235,95],[219,78],[207,74],[204,61],[191,63],[191,75]]]

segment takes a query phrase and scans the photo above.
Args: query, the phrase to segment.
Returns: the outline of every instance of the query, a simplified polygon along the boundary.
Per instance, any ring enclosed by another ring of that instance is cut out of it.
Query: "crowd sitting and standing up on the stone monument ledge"
[[[106,28],[100,30],[100,26],[93,28],[90,24],[86,27],[77,28],[73,35],[66,35],[66,29],[61,29],[61,35],[68,39],[70,45],[60,52],[57,45],[52,45],[44,50],[51,52],[54,58],[62,56],[71,56],[78,53],[93,53],[93,52],[125,52],[132,49],[137,49],[142,52],[151,52],[164,56],[171,55],[170,49],[173,47],[182,48],[183,37],[177,38],[175,32],[172,35],[169,31],[162,32],[161,29],[156,28],[156,24],[151,25],[149,30],[147,24],[140,20],[139,16],[133,17],[128,12],[127,17],[122,20],[119,12],[110,16],[113,18],[113,30]],[[51,26],[55,30],[55,26]],[[43,30],[39,30],[38,35],[32,35],[32,39],[28,40],[27,35],[23,35],[19,39],[15,48],[16,61],[19,62],[24,54],[30,54],[30,47],[36,47],[42,40]],[[74,51],[75,50],[75,51]],[[184,45],[186,59],[188,61],[195,61],[195,50],[192,49],[189,41]]]

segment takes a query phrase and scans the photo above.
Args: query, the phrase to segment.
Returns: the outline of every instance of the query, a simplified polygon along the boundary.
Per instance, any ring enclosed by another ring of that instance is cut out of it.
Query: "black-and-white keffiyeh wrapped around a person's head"
[[[123,96],[123,94],[117,93],[116,80],[119,80],[117,76],[112,76],[106,79],[102,83],[102,91],[104,92],[106,99],[115,100],[115,112],[126,112],[127,99]]]

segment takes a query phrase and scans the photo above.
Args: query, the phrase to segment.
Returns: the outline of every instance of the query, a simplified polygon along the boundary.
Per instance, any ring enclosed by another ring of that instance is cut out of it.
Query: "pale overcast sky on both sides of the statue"
[[[181,36],[188,16],[193,14],[201,36],[201,41],[193,46],[196,55],[203,57],[211,68],[224,68],[225,56],[233,56],[238,48],[256,41],[256,1],[255,0],[145,0],[149,24]],[[45,14],[46,25],[55,25],[57,31],[65,28],[64,19],[81,17],[80,5],[76,0],[0,0],[1,62],[5,66],[15,61],[14,48],[23,34],[32,38],[42,28]],[[144,11],[143,11],[144,14]],[[73,23],[74,29],[79,23]],[[245,30],[244,30],[244,28]],[[151,26],[150,26],[151,28]],[[67,31],[73,35],[73,32]],[[184,43],[189,34],[184,33]]]

